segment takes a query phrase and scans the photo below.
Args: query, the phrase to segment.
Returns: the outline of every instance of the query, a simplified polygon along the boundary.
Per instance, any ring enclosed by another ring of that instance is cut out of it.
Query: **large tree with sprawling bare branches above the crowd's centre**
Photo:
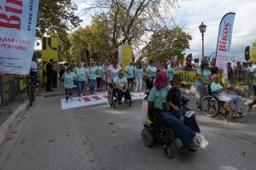
[[[158,31],[165,26],[165,15],[177,4],[177,0],[96,0],[84,8],[84,14],[92,9],[106,15],[110,42],[114,57],[120,44],[140,40],[148,31]],[[102,12],[103,11],[103,12]]]

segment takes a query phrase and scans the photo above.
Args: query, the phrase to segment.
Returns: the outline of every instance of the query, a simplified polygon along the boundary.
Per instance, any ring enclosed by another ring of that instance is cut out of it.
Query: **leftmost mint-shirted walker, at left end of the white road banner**
[[[71,71],[70,67],[67,67],[67,71],[62,75],[61,79],[63,80],[67,103],[68,99],[72,98],[73,88],[75,88],[75,86],[73,85],[73,81],[76,79],[76,75]]]

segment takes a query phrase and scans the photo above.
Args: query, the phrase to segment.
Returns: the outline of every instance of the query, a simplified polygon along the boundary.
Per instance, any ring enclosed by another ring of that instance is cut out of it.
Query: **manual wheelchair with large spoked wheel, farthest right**
[[[201,111],[206,116],[217,116],[218,113],[224,115],[224,121],[228,122],[233,115],[230,102],[220,101],[216,96],[217,93],[211,91],[211,83],[208,84],[208,93],[201,99]]]

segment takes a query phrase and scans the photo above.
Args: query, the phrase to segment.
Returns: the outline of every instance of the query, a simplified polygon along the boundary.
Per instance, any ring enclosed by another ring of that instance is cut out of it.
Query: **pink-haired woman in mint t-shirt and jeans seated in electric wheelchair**
[[[168,86],[168,76],[166,71],[156,73],[154,88],[150,90],[148,95],[148,115],[151,120],[156,120],[166,127],[180,139],[184,147],[192,150],[205,148],[208,141],[201,135],[200,129],[195,125],[195,119],[184,118],[184,123],[177,116],[173,116],[171,112],[165,111],[166,97],[170,90]],[[194,119],[194,121],[191,121]]]

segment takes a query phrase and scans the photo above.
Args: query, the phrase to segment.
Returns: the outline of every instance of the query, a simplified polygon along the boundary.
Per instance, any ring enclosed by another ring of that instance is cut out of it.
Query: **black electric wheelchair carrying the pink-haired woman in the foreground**
[[[148,100],[148,94],[145,97],[145,100]],[[188,100],[184,102],[188,102]],[[152,147],[156,143],[163,144],[164,154],[167,158],[172,157],[172,149],[177,150],[177,153],[180,155],[185,153],[187,150],[192,152],[196,151],[189,147],[180,147],[180,145],[182,145],[181,141],[177,139],[172,130],[167,127],[166,122],[160,123],[157,120],[156,115],[152,114],[150,111],[148,112],[147,121],[143,126],[144,128],[141,133],[143,137],[143,144],[147,147]]]

